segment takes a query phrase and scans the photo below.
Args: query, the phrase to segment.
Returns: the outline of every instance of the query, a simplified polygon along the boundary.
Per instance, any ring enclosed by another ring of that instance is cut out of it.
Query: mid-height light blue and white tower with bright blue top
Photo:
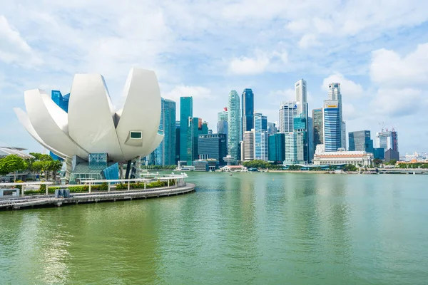
[[[254,114],[254,132],[254,159],[267,161],[269,135],[267,134],[266,116],[260,113]]]

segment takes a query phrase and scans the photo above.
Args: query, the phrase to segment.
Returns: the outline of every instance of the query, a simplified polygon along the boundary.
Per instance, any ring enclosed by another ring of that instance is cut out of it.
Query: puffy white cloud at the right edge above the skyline
[[[370,76],[375,83],[388,86],[428,84],[428,43],[417,46],[407,56],[379,49],[372,53]]]

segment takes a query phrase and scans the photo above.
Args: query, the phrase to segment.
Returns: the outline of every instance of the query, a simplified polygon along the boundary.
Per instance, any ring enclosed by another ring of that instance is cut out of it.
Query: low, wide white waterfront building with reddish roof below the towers
[[[372,165],[373,154],[362,151],[315,152],[313,165]]]

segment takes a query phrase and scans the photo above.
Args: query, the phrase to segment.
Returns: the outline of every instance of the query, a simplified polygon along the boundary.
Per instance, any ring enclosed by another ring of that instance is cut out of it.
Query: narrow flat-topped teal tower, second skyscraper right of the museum
[[[193,98],[180,98],[180,160],[188,160],[188,128],[193,118]]]

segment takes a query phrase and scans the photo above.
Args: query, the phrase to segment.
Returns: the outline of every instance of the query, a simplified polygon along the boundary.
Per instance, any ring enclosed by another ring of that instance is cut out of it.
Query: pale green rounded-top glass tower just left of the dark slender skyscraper
[[[231,90],[228,98],[228,155],[238,160],[241,138],[240,103],[236,90]]]

